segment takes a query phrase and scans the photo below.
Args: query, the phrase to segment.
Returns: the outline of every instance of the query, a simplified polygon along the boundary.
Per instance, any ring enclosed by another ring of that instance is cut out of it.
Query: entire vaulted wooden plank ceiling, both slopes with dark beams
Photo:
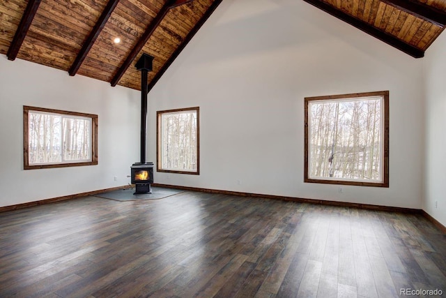
[[[304,1],[413,57],[446,24],[446,0]],[[150,91],[221,2],[0,0],[0,53],[140,90],[134,64],[146,52]]]

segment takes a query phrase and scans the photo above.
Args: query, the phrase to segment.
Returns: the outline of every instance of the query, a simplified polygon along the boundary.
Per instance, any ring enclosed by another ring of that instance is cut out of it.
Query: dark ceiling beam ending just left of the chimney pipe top
[[[164,3],[164,6],[162,6],[159,13],[157,13],[156,17],[153,19],[153,21],[148,25],[146,31],[144,34],[139,38],[136,45],[134,45],[132,52],[128,55],[128,57],[125,59],[123,65],[118,69],[118,72],[116,75],[114,75],[112,82],[112,87],[115,87],[116,84],[118,84],[119,80],[121,80],[121,77],[123,77],[125,71],[129,68],[130,64],[132,64],[132,61],[137,57],[139,52],[141,52],[144,45],[146,45],[149,38],[151,38],[153,32],[158,27],[158,25],[162,22],[162,19],[167,15],[169,10],[171,8],[174,8],[176,6],[183,5],[185,3],[188,3],[192,0],[167,0],[166,3]]]

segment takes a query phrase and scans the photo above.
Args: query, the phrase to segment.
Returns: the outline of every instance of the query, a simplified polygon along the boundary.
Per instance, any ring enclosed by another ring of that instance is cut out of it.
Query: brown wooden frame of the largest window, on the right
[[[367,98],[371,96],[381,96],[383,98],[383,106],[381,107],[381,115],[383,117],[383,135],[381,147],[382,154],[382,181],[355,181],[354,179],[314,179],[309,177],[309,102],[314,100],[337,100],[351,98]],[[373,187],[389,187],[389,91],[374,91],[355,94],[339,94],[332,96],[314,96],[305,98],[305,166],[304,166],[304,182],[316,184],[339,184],[352,186],[373,186]]]

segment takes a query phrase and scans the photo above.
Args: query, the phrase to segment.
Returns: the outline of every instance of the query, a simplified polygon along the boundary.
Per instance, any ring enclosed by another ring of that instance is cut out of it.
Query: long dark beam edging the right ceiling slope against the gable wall
[[[361,20],[358,20],[357,18],[342,12],[341,10],[337,10],[328,3],[325,3],[321,0],[304,0],[304,1],[325,11],[325,13],[330,13],[330,15],[337,17],[339,20],[347,22],[348,24],[351,24],[352,26],[364,31],[365,33],[368,33],[371,36],[378,38],[379,40],[387,43],[388,45],[392,45],[392,47],[395,47],[398,50],[405,52],[406,54],[409,54],[412,57],[415,58],[424,57],[423,50],[420,50],[419,48],[414,47],[413,45],[409,45],[408,43],[403,42],[403,40],[400,40],[399,38],[396,38],[390,35],[389,33],[381,31],[380,29],[377,29],[376,27],[372,26],[367,22],[362,22]]]

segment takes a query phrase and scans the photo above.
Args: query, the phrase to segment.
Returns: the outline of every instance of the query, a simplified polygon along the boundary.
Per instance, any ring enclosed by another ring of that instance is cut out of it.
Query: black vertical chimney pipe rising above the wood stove
[[[142,54],[136,64],[137,70],[141,70],[141,165],[146,163],[146,137],[147,137],[147,93],[148,72],[153,68],[153,57]]]

